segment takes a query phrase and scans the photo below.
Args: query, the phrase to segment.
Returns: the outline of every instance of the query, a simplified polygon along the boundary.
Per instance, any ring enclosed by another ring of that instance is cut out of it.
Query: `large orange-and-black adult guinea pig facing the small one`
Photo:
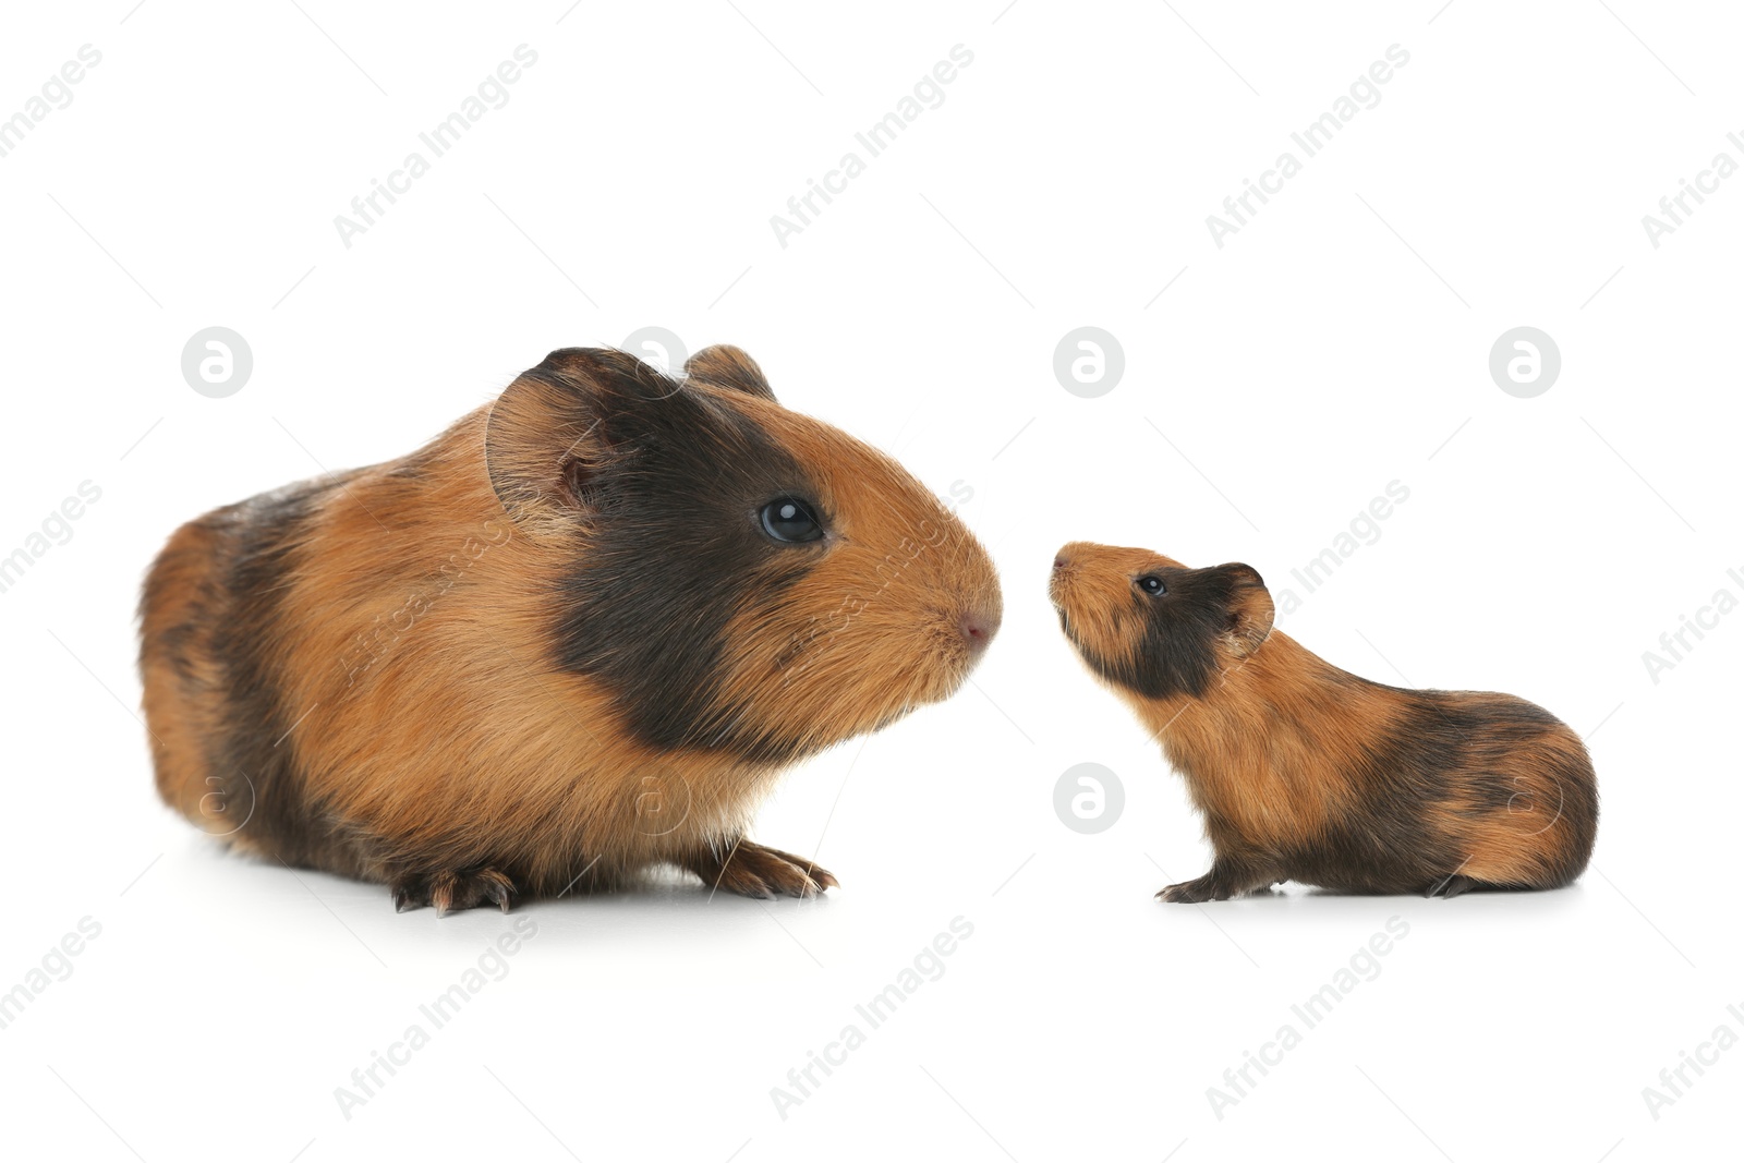
[[[999,610],[933,493],[745,352],[567,349],[408,457],[183,525],[140,668],[167,804],[399,908],[657,863],[809,896],[759,800],[952,694]]]

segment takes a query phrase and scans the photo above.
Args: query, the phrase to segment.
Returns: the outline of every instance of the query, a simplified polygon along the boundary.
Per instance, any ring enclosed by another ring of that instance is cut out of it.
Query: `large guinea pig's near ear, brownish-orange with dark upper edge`
[[[523,371],[490,408],[485,469],[490,486],[527,532],[569,527],[591,507],[600,469],[617,457],[610,420],[682,391],[682,384],[635,356],[605,347],[565,347]]]

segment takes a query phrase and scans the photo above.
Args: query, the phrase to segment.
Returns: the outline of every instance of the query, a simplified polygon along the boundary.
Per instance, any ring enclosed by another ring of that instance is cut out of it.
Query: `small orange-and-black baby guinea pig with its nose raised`
[[[1277,881],[1346,893],[1549,889],[1587,867],[1599,800],[1580,736],[1510,694],[1404,690],[1271,629],[1249,565],[1073,542],[1048,593],[1205,816],[1216,858],[1170,901]]]

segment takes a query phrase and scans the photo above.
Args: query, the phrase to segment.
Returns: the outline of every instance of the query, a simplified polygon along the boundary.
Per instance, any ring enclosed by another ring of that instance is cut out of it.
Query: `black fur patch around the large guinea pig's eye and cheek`
[[[773,542],[762,506],[794,495],[825,527],[828,514],[762,427],[671,380],[661,387],[659,399],[602,405],[612,455],[589,478],[588,547],[562,584],[558,661],[600,680],[652,746],[792,760],[800,746],[745,727],[748,708],[724,692],[727,624],[745,614],[787,633],[781,595],[823,551]]]

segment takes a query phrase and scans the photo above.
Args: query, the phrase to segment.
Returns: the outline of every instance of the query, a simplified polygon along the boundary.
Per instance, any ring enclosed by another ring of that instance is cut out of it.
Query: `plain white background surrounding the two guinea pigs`
[[[101,488],[0,595],[0,989],[101,926],[0,1030],[9,1154],[1737,1153],[1744,1050],[1657,1119],[1643,1098],[1718,1025],[1744,1036],[1723,731],[1744,614],[1659,682],[1643,663],[1718,589],[1744,596],[1744,176],[1659,248],[1641,225],[1714,153],[1744,162],[1725,5],[133,3],[37,5],[0,37],[0,115],[103,54],[0,159],[0,554]],[[539,59],[509,103],[345,248],[335,214],[520,44]],[[957,44],[944,105],[783,248],[771,214]],[[1217,248],[1205,216],[1393,44],[1380,105]],[[753,835],[816,849],[839,891],[760,905],[671,877],[396,915],[384,888],[223,856],[159,806],[133,610],[180,521],[410,452],[546,350],[651,324],[739,343],[787,405],[971,488],[1005,579],[977,687],[762,811]],[[1085,324],[1125,349],[1097,399],[1052,371]],[[1488,371],[1523,324],[1563,356],[1533,399]],[[227,399],[181,378],[208,326],[253,349]],[[1280,624],[1589,736],[1592,868],[1454,901],[1153,901],[1209,849],[1060,638],[1052,551],[1243,560],[1277,593],[1395,479],[1380,539]],[[1125,786],[1099,835],[1052,807],[1080,762]],[[771,1088],[957,915],[945,975],[781,1118]],[[537,938],[508,976],[347,1119],[335,1088],[516,917]],[[1388,917],[1409,935],[1380,975],[1305,1029],[1291,1006]],[[1284,1024],[1301,1044],[1219,1118],[1207,1088]]]

